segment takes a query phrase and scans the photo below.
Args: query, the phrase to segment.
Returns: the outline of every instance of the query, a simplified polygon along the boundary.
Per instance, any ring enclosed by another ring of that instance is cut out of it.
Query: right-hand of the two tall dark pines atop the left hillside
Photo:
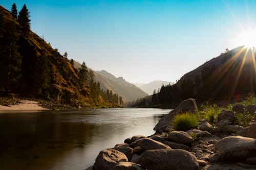
[[[29,35],[30,31],[30,19],[29,19],[29,11],[27,9],[26,4],[24,4],[22,10],[19,11],[18,13],[18,22],[20,25],[20,29],[22,30],[22,35],[26,37]]]

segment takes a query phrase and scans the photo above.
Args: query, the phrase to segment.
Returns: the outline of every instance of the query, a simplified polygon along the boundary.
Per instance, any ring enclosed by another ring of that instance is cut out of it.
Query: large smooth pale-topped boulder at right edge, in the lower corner
[[[256,139],[229,136],[215,144],[217,154],[211,155],[211,162],[244,161],[249,157],[256,157]]]

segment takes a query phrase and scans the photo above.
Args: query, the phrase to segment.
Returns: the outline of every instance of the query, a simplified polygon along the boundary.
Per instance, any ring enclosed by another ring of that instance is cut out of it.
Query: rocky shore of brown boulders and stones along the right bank
[[[185,100],[159,120],[155,134],[133,136],[102,150],[87,170],[256,169],[256,123],[252,120],[247,127],[236,125],[236,114],[245,109],[255,114],[256,106],[236,105],[232,111],[222,110],[215,126],[199,119],[198,129],[174,131],[175,115],[197,111],[194,99]]]

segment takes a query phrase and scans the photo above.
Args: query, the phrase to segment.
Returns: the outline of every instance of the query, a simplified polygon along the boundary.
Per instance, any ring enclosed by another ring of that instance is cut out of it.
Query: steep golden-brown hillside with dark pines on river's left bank
[[[59,54],[30,30],[26,5],[17,13],[0,6],[0,94],[44,98],[78,106],[119,105],[122,97],[102,90],[85,63],[74,68],[67,53]]]

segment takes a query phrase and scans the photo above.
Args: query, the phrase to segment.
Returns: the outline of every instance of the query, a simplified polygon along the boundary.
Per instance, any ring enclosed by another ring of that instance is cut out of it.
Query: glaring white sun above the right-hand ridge
[[[256,47],[256,28],[243,30],[236,37],[236,43],[246,48]]]

